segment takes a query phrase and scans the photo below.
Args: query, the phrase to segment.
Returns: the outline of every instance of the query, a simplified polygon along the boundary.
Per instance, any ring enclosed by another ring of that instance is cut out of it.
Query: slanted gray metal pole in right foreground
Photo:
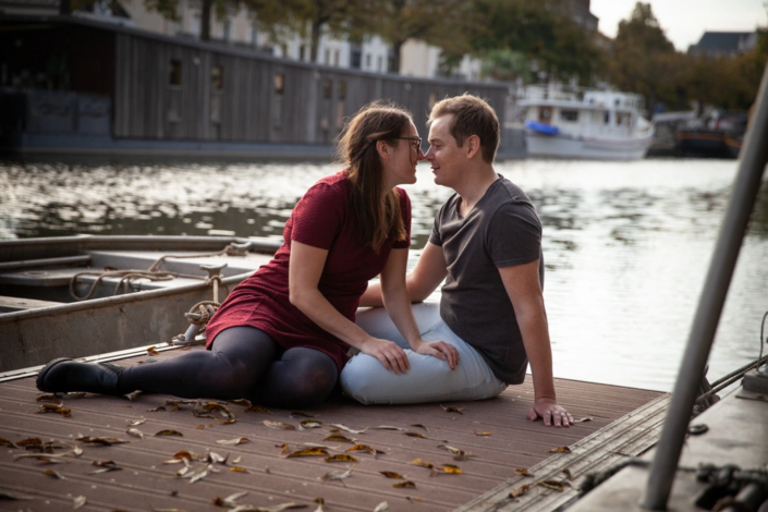
[[[742,147],[731,200],[728,204],[726,219],[720,228],[704,291],[691,327],[661,438],[656,446],[656,456],[650,466],[648,487],[643,499],[645,509],[667,510],[667,500],[672,490],[696,392],[702,382],[704,366],[709,357],[722,305],[726,302],[728,287],[731,283],[733,268],[736,265],[767,160],[768,66],[763,73],[755,110]]]

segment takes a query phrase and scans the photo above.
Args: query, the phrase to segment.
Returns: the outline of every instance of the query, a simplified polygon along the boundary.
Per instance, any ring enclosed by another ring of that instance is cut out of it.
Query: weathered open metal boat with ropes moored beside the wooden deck
[[[184,332],[184,314],[214,298],[215,287],[223,300],[280,243],[234,236],[0,241],[0,371],[162,344]]]

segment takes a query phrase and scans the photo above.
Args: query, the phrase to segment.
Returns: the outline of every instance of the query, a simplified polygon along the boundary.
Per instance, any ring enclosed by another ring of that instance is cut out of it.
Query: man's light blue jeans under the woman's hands
[[[401,375],[388,371],[374,356],[357,354],[341,371],[341,387],[366,405],[484,400],[497,397],[507,385],[496,378],[479,353],[459,338],[440,318],[437,303],[414,304],[424,341],[444,341],[456,348],[455,369],[448,362],[413,352],[383,307],[357,314],[356,324],[375,338],[391,340],[405,350],[411,368]]]

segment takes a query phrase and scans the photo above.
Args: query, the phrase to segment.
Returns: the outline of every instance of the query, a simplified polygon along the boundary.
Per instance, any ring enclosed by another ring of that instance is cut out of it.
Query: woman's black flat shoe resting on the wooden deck
[[[81,363],[66,357],[53,359],[37,375],[37,389],[49,393],[85,391],[120,395],[118,379],[122,366],[111,363]]]

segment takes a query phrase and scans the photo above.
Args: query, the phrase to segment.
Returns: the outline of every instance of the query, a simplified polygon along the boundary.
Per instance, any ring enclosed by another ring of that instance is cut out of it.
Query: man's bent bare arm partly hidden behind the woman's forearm
[[[422,302],[440,285],[448,275],[442,247],[427,242],[416,267],[405,278],[411,302]],[[380,282],[371,282],[359,300],[361,307],[383,306]]]

